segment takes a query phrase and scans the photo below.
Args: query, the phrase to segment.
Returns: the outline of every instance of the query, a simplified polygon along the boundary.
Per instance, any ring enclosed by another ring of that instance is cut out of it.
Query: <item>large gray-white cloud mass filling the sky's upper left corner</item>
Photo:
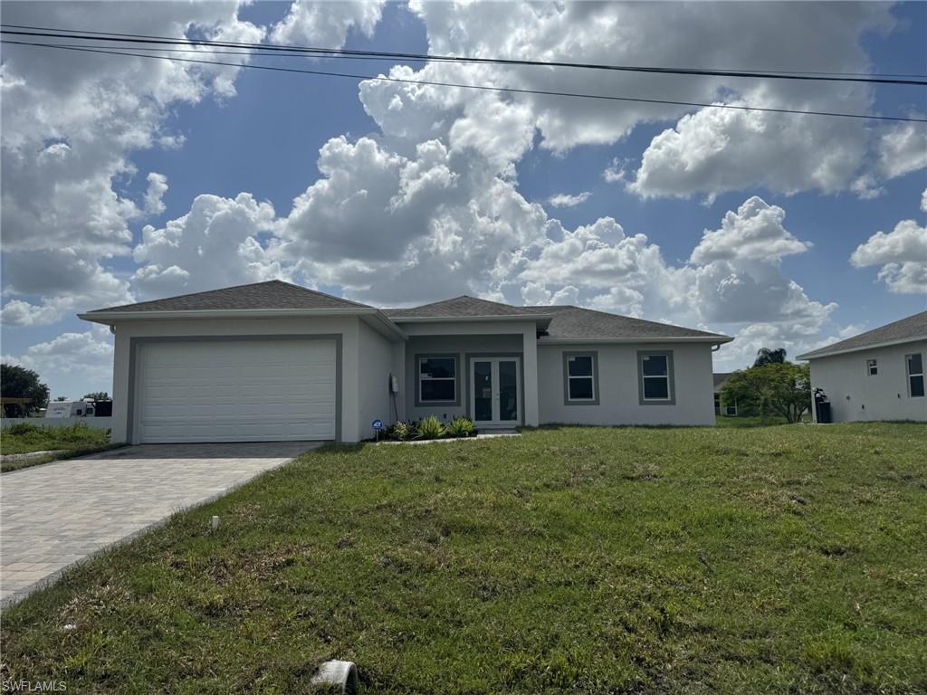
[[[71,3],[12,3],[10,23],[73,24]],[[227,41],[260,41],[263,30],[237,18],[237,3],[85,4],[86,26],[111,31]],[[247,56],[226,62],[243,63]],[[0,77],[2,225],[7,325],[53,322],[103,300],[130,300],[128,285],[107,268],[128,256],[130,221],[162,211],[166,180],[148,177],[144,199],[114,181],[133,177],[133,152],[180,136],[166,132],[172,105],[235,95],[233,66],[202,66],[9,46]],[[41,272],[42,274],[33,274]],[[32,305],[21,296],[41,295]],[[28,305],[28,306],[27,306]]]

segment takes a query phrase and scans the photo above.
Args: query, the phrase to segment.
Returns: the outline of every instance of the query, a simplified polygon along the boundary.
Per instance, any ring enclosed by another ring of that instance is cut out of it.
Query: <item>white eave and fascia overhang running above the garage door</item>
[[[78,314],[84,321],[112,326],[129,321],[187,321],[191,319],[286,319],[356,316],[381,329],[381,333],[394,335],[400,340],[409,336],[386,314],[374,308],[357,309],[207,309],[171,311],[89,311]]]

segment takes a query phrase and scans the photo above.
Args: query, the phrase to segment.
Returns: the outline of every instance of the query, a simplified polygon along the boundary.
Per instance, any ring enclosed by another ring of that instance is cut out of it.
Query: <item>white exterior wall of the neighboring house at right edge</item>
[[[927,364],[927,340],[848,352],[809,360],[811,388],[824,389],[834,423],[871,420],[927,422],[927,398],[908,395],[905,356],[921,353]],[[866,360],[876,360],[879,373],[870,376]],[[812,412],[817,421],[817,412]]]

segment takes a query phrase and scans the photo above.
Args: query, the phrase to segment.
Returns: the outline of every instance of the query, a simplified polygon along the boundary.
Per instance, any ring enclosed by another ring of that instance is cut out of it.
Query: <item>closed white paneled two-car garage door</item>
[[[138,356],[138,441],[335,438],[335,341],[149,343]]]

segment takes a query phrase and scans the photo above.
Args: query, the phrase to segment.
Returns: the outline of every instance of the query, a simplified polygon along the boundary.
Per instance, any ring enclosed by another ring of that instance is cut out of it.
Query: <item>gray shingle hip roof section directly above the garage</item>
[[[370,309],[366,304],[333,297],[324,292],[289,284],[281,280],[266,283],[240,284],[193,295],[167,297],[153,301],[125,304],[100,311],[194,311],[235,309]]]

